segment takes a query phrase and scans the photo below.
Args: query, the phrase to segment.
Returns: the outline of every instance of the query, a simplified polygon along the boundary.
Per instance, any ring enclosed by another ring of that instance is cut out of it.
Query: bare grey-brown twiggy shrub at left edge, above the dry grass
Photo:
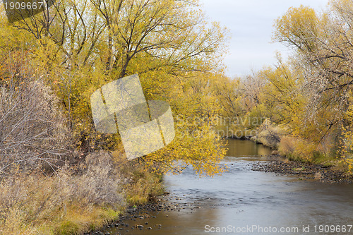
[[[41,78],[18,76],[0,85],[0,172],[15,165],[55,169],[68,152],[59,102]]]

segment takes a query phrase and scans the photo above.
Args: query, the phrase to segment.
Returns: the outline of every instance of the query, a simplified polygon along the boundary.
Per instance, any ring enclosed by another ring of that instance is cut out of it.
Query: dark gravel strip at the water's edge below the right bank
[[[251,164],[253,171],[273,172],[299,176],[299,179],[315,179],[325,183],[353,183],[353,176],[347,176],[345,172],[320,164],[304,162],[291,162],[280,157],[270,156],[268,162],[256,162]]]

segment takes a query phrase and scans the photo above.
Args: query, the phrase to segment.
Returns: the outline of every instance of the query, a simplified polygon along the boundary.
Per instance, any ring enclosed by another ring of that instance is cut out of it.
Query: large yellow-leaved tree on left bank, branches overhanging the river
[[[138,73],[148,100],[165,100],[183,116],[182,133],[207,132],[176,140],[169,159],[194,159],[195,167],[207,171],[224,154],[206,121],[189,121],[210,119],[218,107],[210,80],[222,73],[227,39],[225,28],[208,23],[197,1],[61,0],[9,27],[36,39],[32,63],[60,97],[79,150],[116,149],[119,135],[95,132],[90,95]],[[188,153],[188,145],[195,151]]]

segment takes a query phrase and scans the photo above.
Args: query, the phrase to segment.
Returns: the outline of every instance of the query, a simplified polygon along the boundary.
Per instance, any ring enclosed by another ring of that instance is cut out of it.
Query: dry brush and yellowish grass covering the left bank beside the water
[[[121,155],[88,155],[52,176],[20,171],[0,183],[0,234],[83,234],[162,193],[160,177]]]

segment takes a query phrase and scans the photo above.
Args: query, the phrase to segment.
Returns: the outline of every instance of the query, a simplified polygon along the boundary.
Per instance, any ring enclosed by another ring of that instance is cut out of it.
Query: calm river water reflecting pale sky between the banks
[[[192,169],[164,176],[170,192],[168,203],[175,205],[174,210],[149,212],[149,218],[126,221],[128,227],[107,231],[155,235],[353,234],[349,226],[353,224],[352,184],[252,171],[253,163],[268,161],[270,149],[247,140],[229,140],[228,148],[222,161],[228,171],[222,176],[199,178]],[[131,229],[137,224],[143,224],[143,229]]]

